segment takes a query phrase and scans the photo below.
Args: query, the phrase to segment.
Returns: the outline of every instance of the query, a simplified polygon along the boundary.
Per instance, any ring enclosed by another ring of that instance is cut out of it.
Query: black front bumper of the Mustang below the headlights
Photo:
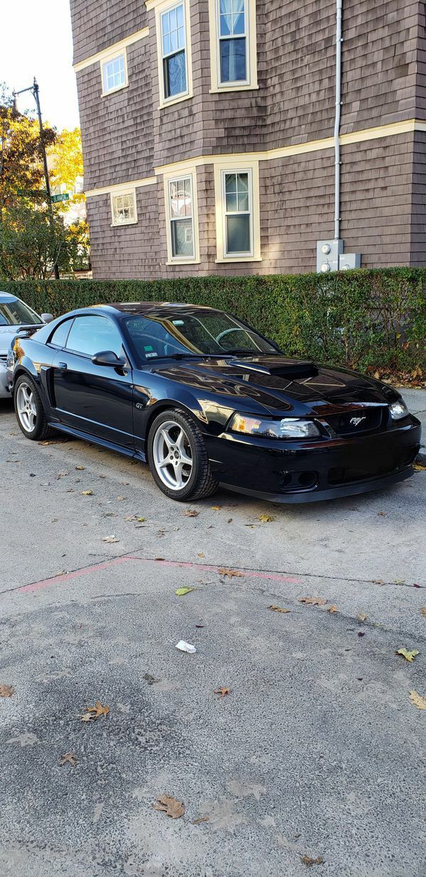
[[[205,437],[224,487],[273,503],[313,503],[387,488],[413,473],[421,425],[412,417],[356,439],[289,442],[222,433]]]

